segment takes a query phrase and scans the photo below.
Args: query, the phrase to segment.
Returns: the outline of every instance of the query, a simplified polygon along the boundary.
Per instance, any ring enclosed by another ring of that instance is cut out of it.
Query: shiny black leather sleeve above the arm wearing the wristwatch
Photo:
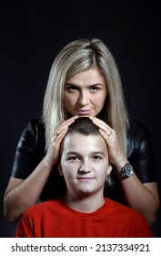
[[[142,183],[156,182],[156,165],[153,144],[143,123],[130,119],[127,133],[127,158],[134,166],[136,176]]]

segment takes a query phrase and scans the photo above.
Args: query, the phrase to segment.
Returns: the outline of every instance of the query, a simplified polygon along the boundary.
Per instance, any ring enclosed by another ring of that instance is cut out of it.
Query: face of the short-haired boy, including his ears
[[[65,177],[68,195],[103,195],[110,171],[106,142],[101,135],[73,133],[65,137],[59,173]]]

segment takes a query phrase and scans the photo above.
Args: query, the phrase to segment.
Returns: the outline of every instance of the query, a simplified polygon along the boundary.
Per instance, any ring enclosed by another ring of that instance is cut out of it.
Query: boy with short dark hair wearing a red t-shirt
[[[58,168],[65,197],[28,208],[15,237],[152,237],[141,214],[104,197],[112,166],[106,142],[89,118],[69,126]]]

